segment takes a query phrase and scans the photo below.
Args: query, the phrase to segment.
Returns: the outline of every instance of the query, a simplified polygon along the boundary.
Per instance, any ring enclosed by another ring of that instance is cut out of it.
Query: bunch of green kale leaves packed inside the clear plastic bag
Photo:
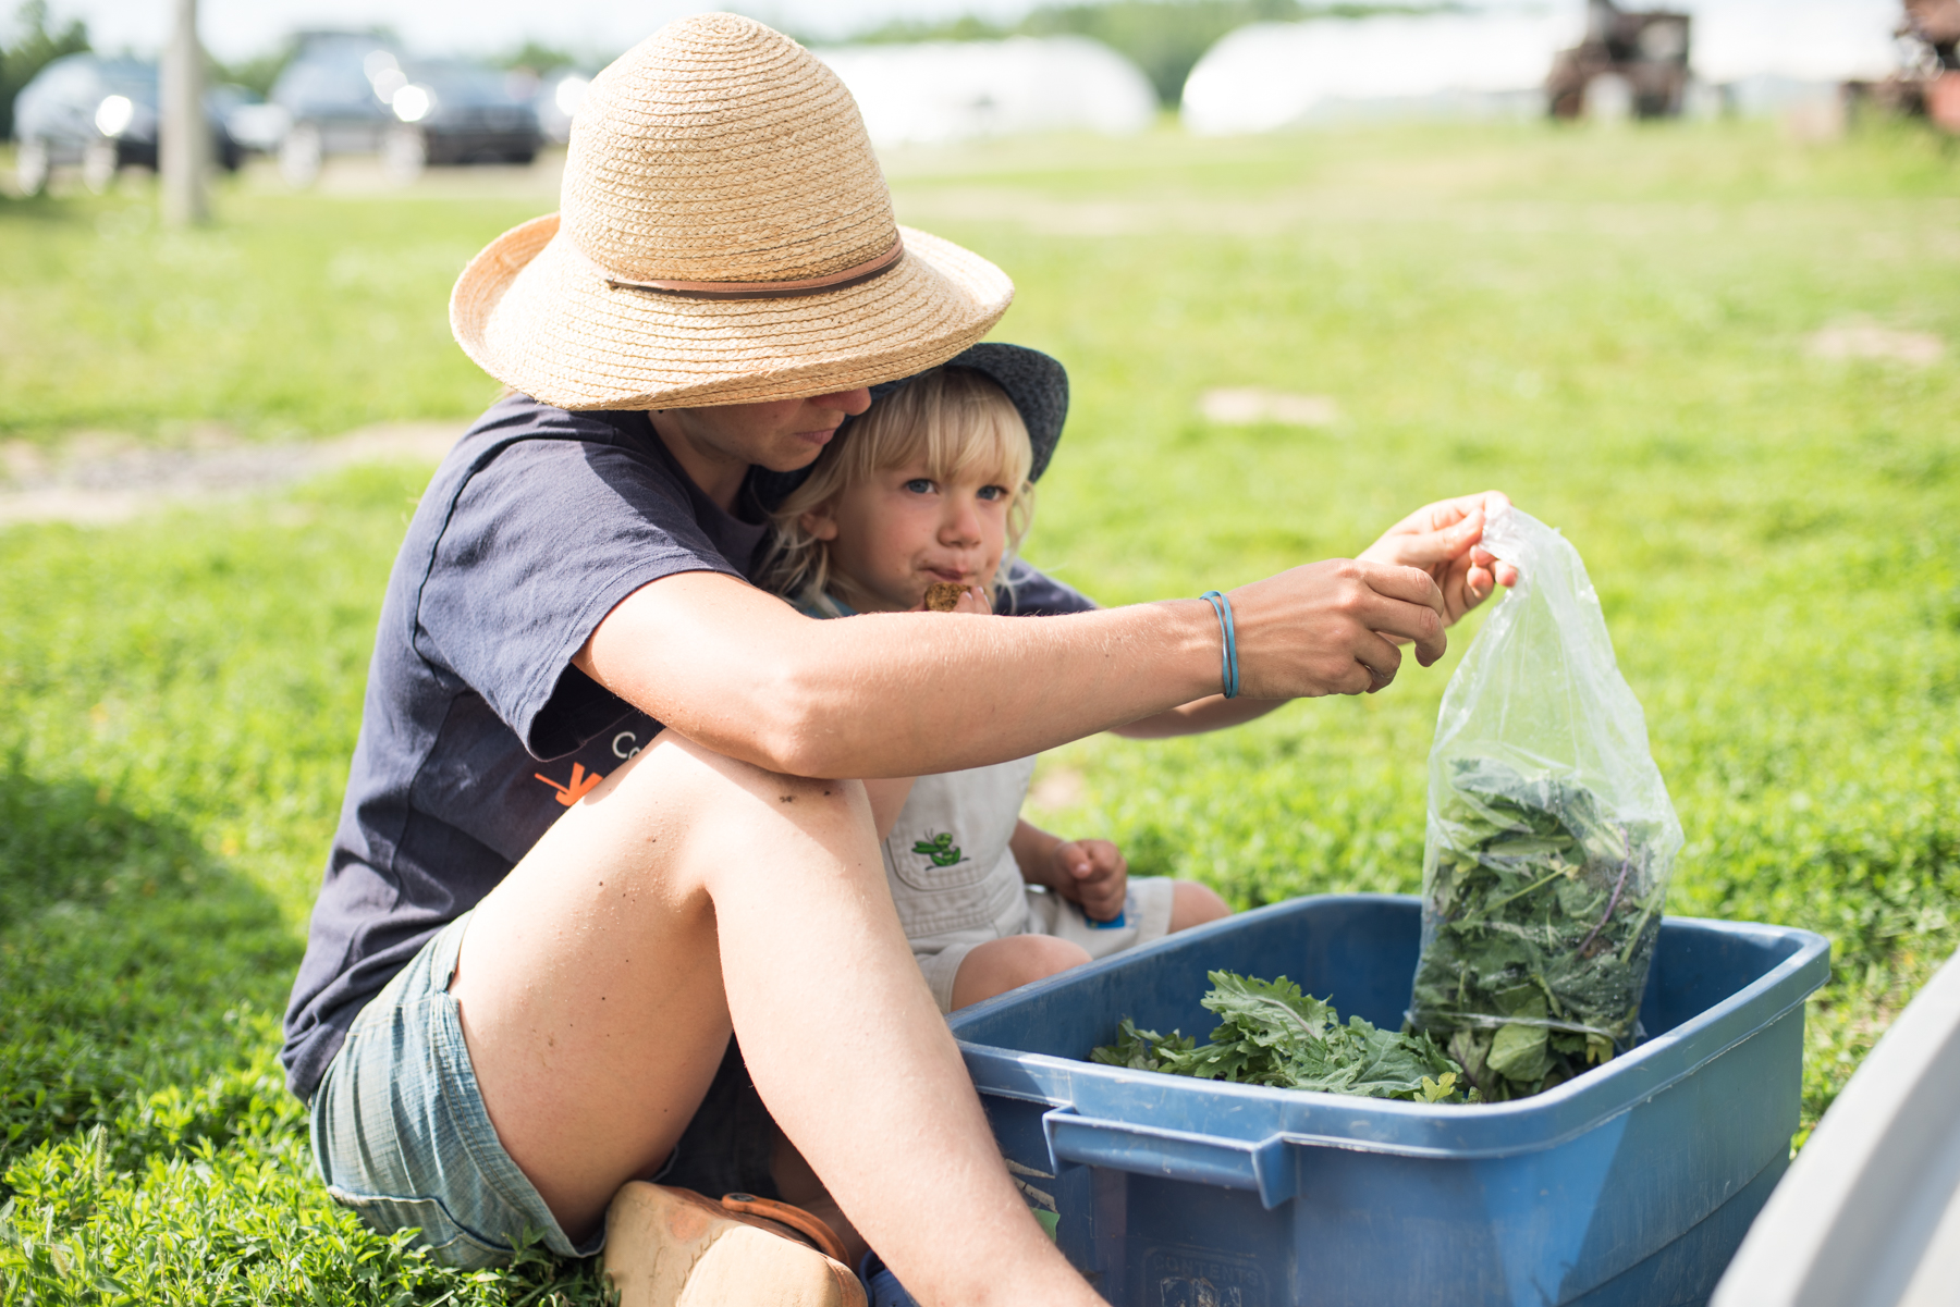
[[[1660,935],[1656,823],[1584,786],[1454,758],[1423,876],[1409,1029],[1443,1041],[1486,1101],[1543,1093],[1639,1037]]]

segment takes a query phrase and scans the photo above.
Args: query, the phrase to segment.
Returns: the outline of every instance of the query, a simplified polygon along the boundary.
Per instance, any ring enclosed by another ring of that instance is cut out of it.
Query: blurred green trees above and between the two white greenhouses
[[[974,14],[943,22],[894,20],[860,31],[855,43],[998,41],[1011,35],[1084,35],[1127,55],[1156,88],[1166,108],[1184,96],[1184,78],[1227,31],[1247,24],[1299,22],[1305,18],[1360,18],[1364,14],[1429,14],[1456,8],[1448,2],[1394,0],[1352,4],[1301,4],[1301,0],[1103,0],[1102,4],[1043,4],[1015,24],[996,24]],[[806,41],[808,43],[808,41]]]

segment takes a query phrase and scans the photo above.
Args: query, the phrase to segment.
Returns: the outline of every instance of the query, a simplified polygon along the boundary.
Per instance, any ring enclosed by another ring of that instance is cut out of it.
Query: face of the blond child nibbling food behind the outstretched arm
[[[882,468],[829,504],[804,513],[804,529],[829,541],[831,568],[857,584],[870,611],[923,607],[933,582],[992,594],[1007,549],[1013,490],[998,472],[941,482],[923,464]]]

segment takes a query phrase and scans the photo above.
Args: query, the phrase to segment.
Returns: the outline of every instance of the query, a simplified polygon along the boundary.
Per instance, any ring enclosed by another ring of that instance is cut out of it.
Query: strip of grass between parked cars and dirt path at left
[[[449,339],[449,286],[549,202],[218,194],[161,231],[141,184],[0,202],[0,439],[94,429],[247,439],[480,410],[496,386]]]

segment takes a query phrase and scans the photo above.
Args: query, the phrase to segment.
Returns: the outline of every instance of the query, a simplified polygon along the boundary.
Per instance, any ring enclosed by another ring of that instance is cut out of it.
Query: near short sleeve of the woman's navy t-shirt
[[[676,572],[741,576],[664,468],[613,445],[519,441],[457,492],[416,645],[555,758],[627,711],[572,656],[619,600]]]

